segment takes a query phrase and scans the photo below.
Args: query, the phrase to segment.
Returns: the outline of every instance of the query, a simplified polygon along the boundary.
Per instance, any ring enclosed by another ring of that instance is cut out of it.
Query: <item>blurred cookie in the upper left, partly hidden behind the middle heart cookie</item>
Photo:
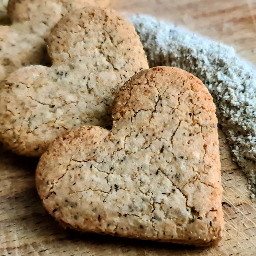
[[[0,26],[0,80],[30,64],[49,64],[45,38],[72,9],[107,6],[110,0],[9,0],[11,26]]]

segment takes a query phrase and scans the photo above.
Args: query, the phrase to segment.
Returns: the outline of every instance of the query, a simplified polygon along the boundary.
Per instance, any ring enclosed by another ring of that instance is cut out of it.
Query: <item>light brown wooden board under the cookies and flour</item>
[[[256,65],[256,0],[119,0],[116,9],[148,13],[222,41]],[[63,230],[35,189],[37,160],[0,152],[0,255],[250,256],[256,255],[256,202],[219,131],[224,188],[224,238],[194,248]]]

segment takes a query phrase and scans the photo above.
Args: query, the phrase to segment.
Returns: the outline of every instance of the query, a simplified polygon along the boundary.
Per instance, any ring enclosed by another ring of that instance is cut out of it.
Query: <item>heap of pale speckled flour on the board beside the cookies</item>
[[[256,67],[239,57],[232,47],[172,23],[147,15],[130,19],[150,67],[180,67],[207,86],[234,160],[248,177],[251,197],[256,198]]]

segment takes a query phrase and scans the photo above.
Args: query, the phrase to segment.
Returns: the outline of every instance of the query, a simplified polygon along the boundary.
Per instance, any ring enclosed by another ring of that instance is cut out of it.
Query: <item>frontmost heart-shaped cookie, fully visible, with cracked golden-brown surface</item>
[[[215,105],[195,76],[143,70],[119,91],[111,131],[72,129],[41,156],[36,184],[64,227],[207,245],[221,237]]]

